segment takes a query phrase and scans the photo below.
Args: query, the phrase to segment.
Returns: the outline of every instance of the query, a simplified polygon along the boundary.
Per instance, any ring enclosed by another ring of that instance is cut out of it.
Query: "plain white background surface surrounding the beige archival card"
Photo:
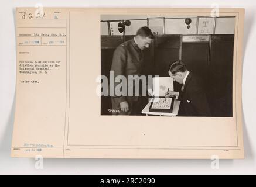
[[[244,160],[221,160],[219,169],[211,169],[211,160],[102,160],[102,159],[45,159],[44,169],[35,169],[31,158],[11,158],[11,139],[15,109],[15,19],[16,6],[35,6],[33,0],[1,1],[0,29],[0,174],[83,174],[83,175],[230,175],[256,174],[256,2],[253,0],[142,0],[123,1],[52,1],[41,0],[43,6],[83,7],[171,7],[171,8],[245,8],[244,58],[243,58],[243,131]],[[3,16],[4,15],[4,16]]]

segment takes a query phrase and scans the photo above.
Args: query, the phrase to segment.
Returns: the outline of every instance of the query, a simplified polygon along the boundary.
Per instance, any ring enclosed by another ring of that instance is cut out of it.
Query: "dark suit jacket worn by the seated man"
[[[178,99],[181,100],[178,116],[211,116],[206,93],[199,79],[191,72]]]

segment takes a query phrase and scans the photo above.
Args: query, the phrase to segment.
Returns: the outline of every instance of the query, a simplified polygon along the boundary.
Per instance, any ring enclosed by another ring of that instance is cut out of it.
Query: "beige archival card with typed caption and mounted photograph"
[[[15,16],[12,157],[244,158],[244,9]]]

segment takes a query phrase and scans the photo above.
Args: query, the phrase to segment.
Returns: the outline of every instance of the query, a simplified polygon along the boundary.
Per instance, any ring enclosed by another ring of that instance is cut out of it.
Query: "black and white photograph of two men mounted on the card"
[[[233,117],[235,19],[101,15],[101,115]]]

